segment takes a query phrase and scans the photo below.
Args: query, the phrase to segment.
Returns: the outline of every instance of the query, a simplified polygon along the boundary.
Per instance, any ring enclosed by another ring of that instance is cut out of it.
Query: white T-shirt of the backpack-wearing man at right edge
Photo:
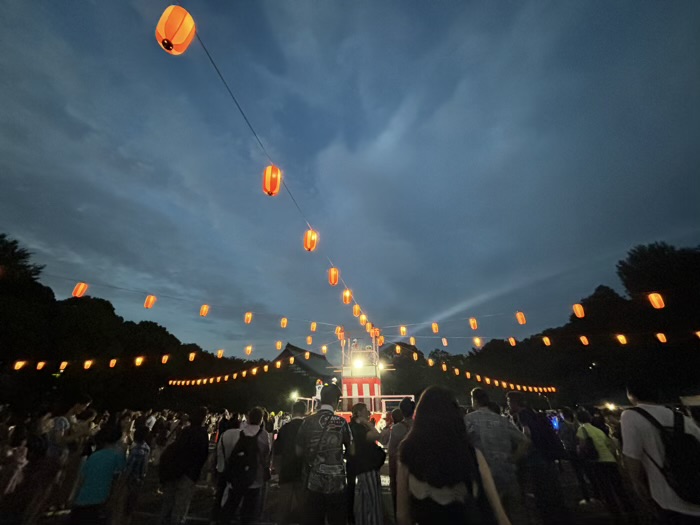
[[[639,404],[639,408],[649,412],[664,427],[673,427],[673,412],[662,405]],[[700,428],[692,419],[685,417],[685,433],[700,440]],[[651,497],[662,509],[700,516],[700,505],[693,505],[682,500],[666,482],[666,478],[651,462],[651,456],[657,465],[664,464],[664,446],[659,431],[644,416],[634,410],[625,410],[620,418],[622,425],[622,453],[642,462],[649,480]]]

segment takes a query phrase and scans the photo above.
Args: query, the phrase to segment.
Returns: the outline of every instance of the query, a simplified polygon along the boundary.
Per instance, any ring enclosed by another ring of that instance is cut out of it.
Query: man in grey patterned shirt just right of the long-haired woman
[[[526,523],[527,514],[515,465],[524,456],[529,440],[511,421],[496,415],[490,408],[491,402],[485,390],[474,388],[471,398],[474,411],[464,416],[467,438],[486,458],[510,520],[517,524]]]

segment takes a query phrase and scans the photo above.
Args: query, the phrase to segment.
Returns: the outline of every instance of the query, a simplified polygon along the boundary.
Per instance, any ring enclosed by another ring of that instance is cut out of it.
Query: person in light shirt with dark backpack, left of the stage
[[[257,517],[263,486],[270,479],[270,436],[263,428],[262,408],[251,409],[240,429],[221,436],[216,470],[225,487],[220,502],[215,502],[214,520],[230,522],[240,506],[241,523],[251,523]]]

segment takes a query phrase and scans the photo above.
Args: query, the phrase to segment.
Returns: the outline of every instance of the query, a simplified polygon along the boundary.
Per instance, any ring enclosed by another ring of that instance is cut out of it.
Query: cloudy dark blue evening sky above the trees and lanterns
[[[598,284],[619,289],[634,245],[700,243],[696,1],[183,5],[319,252],[302,250],[289,198],[263,195],[266,159],[199,44],[157,45],[167,3],[14,0],[0,230],[60,298],[86,281],[126,319],[272,357],[277,339],[304,345],[301,320],[364,334],[328,255],[381,326],[439,320],[462,352],[457,319],[524,337]]]

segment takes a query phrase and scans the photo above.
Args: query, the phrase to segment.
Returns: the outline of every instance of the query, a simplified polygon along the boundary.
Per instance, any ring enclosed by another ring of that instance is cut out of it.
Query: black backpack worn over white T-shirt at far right
[[[683,414],[674,410],[673,428],[667,428],[642,408],[634,407],[630,410],[644,416],[661,435],[664,464],[656,463],[648,453],[647,457],[682,500],[700,505],[700,441],[695,436],[685,433]]]

